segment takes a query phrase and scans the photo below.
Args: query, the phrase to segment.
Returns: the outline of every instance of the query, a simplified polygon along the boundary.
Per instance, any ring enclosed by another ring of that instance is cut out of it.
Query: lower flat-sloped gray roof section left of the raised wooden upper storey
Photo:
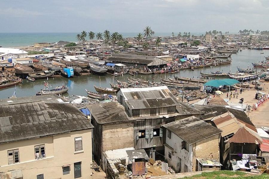
[[[118,102],[90,104],[87,105],[87,108],[98,124],[132,121],[131,118],[128,118],[124,107]]]

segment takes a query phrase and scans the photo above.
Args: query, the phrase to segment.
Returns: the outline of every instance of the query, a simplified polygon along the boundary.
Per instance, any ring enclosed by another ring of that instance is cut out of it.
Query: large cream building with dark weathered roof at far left
[[[1,100],[1,178],[90,178],[93,126],[61,101],[56,95]]]

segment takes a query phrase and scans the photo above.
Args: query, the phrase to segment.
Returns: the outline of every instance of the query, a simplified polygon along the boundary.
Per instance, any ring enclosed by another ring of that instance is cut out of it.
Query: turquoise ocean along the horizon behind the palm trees
[[[98,33],[98,32],[97,32]],[[95,34],[97,34],[95,33]],[[113,33],[113,32],[112,32]],[[123,38],[135,37],[139,32],[120,33]],[[142,32],[141,32],[142,33]],[[183,34],[183,32],[181,32]],[[33,45],[37,42],[58,42],[71,41],[77,42],[78,33],[0,33],[0,46],[2,47],[22,47]],[[178,32],[175,32],[177,36]],[[205,33],[191,33],[191,35],[201,36]],[[171,36],[172,32],[155,33],[154,36]],[[88,37],[87,37],[88,38]]]

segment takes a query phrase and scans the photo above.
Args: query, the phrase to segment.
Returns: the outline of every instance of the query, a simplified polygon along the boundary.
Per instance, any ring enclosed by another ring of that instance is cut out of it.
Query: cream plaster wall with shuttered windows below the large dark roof
[[[76,153],[74,138],[82,137],[82,151]],[[45,144],[46,158],[35,160],[34,146]],[[20,163],[8,165],[7,151],[19,149]],[[91,178],[92,161],[91,129],[70,132],[39,139],[31,139],[0,145],[0,172],[21,169],[23,178],[36,178],[44,174],[45,179],[74,178],[74,163],[82,164],[82,178]],[[62,166],[70,164],[70,174],[62,175]]]

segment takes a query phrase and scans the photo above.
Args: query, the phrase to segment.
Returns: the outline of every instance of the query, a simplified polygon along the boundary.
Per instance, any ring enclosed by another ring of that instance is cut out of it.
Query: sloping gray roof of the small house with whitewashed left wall
[[[194,116],[164,124],[163,127],[189,144],[199,142],[222,132],[220,129]]]

